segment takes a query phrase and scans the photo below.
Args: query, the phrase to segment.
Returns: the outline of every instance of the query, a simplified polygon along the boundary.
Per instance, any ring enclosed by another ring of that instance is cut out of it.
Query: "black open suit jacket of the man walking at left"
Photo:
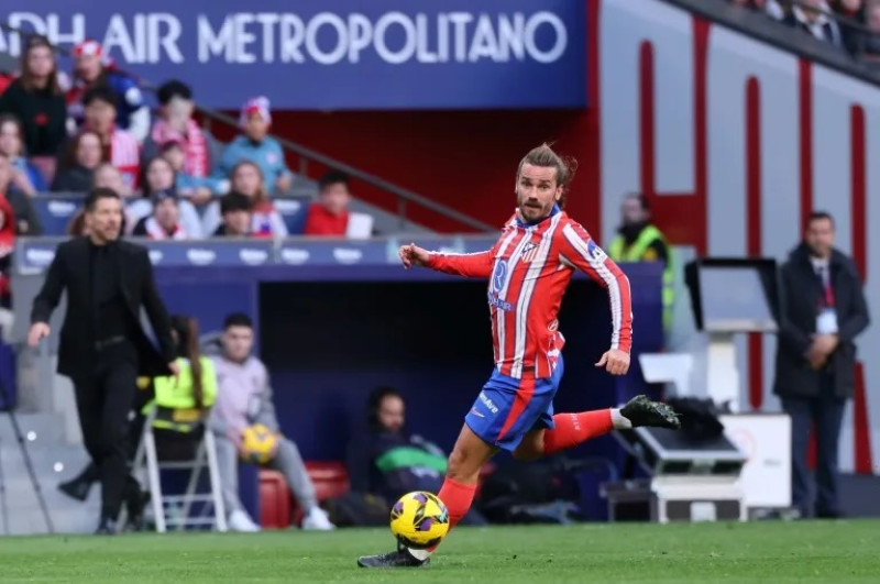
[[[134,339],[130,340],[138,349],[141,374],[168,375],[168,363],[175,359],[174,343],[168,312],[153,279],[150,255],[146,249],[133,243],[120,241],[118,245],[116,258],[120,269],[120,291],[138,323]],[[67,290],[67,313],[61,331],[58,373],[80,379],[91,375],[96,355],[87,238],[76,238],[58,245],[43,288],[34,298],[32,323],[50,321],[63,290]],[[146,309],[160,350],[140,326],[141,306]]]

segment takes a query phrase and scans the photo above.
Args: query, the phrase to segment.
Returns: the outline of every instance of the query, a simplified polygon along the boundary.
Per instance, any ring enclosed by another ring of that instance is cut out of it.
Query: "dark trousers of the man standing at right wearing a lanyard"
[[[846,399],[835,396],[834,376],[822,374],[818,397],[783,397],[782,409],[791,417],[792,433],[792,504],[805,516],[836,515],[838,502],[837,449],[840,443],[840,423],[844,419]],[[806,458],[810,449],[810,431],[816,433],[816,505],[810,499],[812,473]]]

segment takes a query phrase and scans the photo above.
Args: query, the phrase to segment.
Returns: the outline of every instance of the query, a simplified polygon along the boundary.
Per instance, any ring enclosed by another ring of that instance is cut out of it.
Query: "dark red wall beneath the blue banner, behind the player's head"
[[[587,228],[596,219],[591,198],[591,115],[570,111],[355,112],[276,115],[274,132],[375,174],[488,224],[499,225],[514,208],[519,158],[541,142],[581,163],[570,211]],[[310,167],[309,175],[317,177]],[[366,185],[356,195],[388,210],[394,197]],[[595,192],[593,190],[592,192]],[[461,225],[410,206],[407,214],[441,231]]]

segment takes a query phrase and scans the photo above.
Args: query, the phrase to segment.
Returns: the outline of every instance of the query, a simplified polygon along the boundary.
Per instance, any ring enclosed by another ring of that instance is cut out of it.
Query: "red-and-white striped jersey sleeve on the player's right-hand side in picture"
[[[584,272],[608,291],[612,307],[612,349],[632,348],[632,301],[629,278],[578,223],[568,223],[560,235],[560,260]]]

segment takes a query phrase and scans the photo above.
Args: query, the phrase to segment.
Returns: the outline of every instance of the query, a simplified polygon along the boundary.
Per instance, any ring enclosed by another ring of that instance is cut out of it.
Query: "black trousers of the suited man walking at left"
[[[100,474],[102,519],[116,520],[125,496],[136,383],[138,353],[128,341],[97,352],[92,375],[74,381],[82,440]]]

